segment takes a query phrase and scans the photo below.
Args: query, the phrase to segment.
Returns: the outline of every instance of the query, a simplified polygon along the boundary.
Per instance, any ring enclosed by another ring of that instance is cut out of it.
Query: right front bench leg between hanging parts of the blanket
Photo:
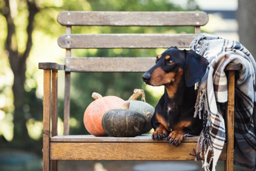
[[[235,96],[235,71],[228,75],[228,102],[226,106],[227,121],[227,160],[225,171],[233,171],[234,164],[234,96]]]

